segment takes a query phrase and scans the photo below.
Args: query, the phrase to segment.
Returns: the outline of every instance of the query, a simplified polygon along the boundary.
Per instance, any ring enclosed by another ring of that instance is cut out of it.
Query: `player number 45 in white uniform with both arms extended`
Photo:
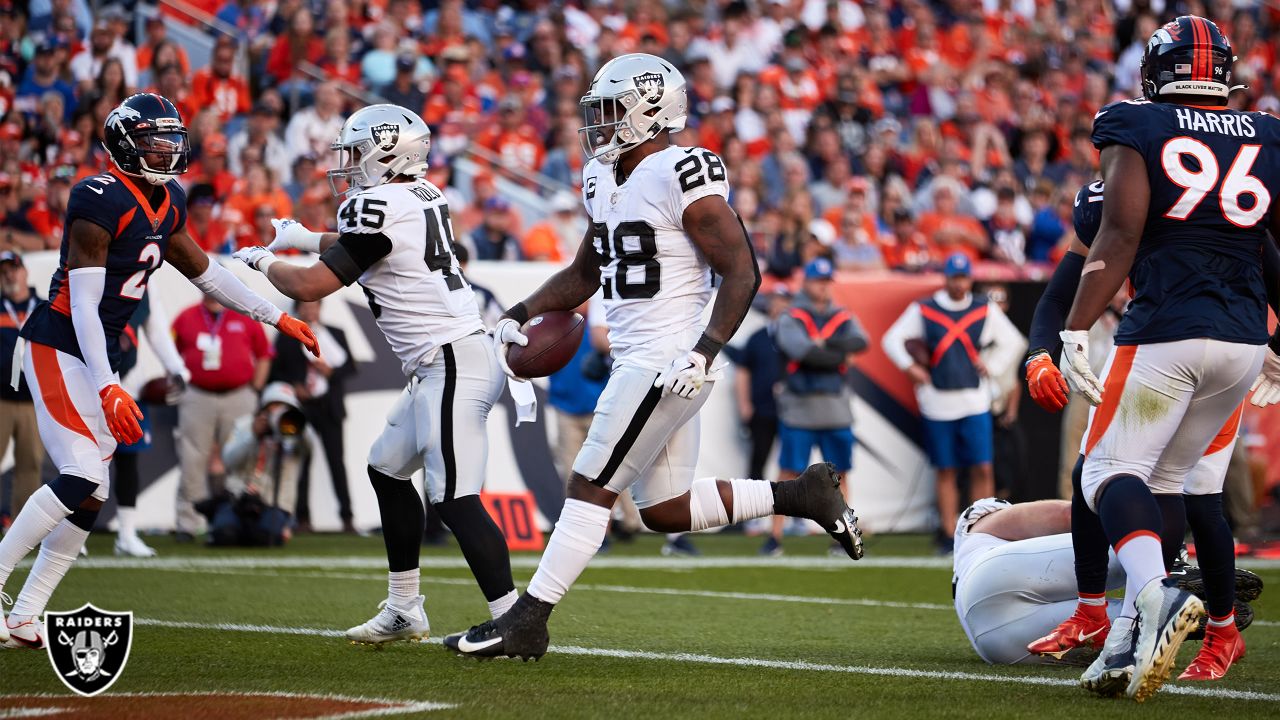
[[[412,483],[424,468],[428,501],[458,539],[489,612],[498,618],[516,602],[506,539],[480,502],[485,423],[503,375],[453,255],[444,193],[424,178],[430,138],[426,123],[398,105],[356,111],[333,146],[342,167],[329,170],[334,193],[348,196],[338,209],[339,232],[276,219],[270,249],[236,252],[294,300],[320,300],[360,283],[408,377],[369,451],[387,544],[387,600],[371,620],[347,630],[353,642],[428,634],[419,585],[424,507]],[[319,252],[320,261],[300,266],[270,252],[287,247]]]

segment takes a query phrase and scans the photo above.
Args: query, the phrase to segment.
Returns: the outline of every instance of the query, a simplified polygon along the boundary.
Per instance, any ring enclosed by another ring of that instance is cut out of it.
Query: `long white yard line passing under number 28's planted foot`
[[[238,623],[188,623],[188,621],[173,621],[173,620],[154,620],[150,618],[136,618],[134,623],[137,623],[138,625],[184,628],[184,629],[197,629],[197,630],[317,635],[325,638],[342,635],[342,633],[338,630],[321,629],[321,628],[282,628],[278,625],[247,625]],[[430,641],[430,642],[438,642],[438,641]],[[759,657],[718,657],[714,655],[700,655],[691,652],[649,652],[639,650],[611,650],[611,648],[579,647],[579,646],[552,646],[550,652],[558,655],[581,655],[588,657],[613,657],[620,660],[657,660],[663,662],[727,665],[735,667],[763,667],[769,670],[792,670],[803,673],[845,673],[851,675],[877,675],[886,678],[1014,683],[1023,685],[1052,685],[1052,687],[1075,687],[1076,684],[1076,682],[1071,678],[1053,678],[1044,675],[996,675],[988,673],[915,670],[910,667],[876,667],[870,665],[835,665],[826,662],[805,662],[805,661],[792,661],[792,660],[765,660]],[[1165,685],[1161,692],[1170,694],[1211,697],[1222,700],[1254,700],[1263,702],[1280,702],[1280,694],[1277,693],[1230,691],[1224,688]]]

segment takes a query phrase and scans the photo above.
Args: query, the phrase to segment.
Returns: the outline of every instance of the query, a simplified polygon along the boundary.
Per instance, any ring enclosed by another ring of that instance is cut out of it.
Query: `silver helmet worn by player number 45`
[[[383,184],[396,176],[421,177],[431,150],[431,128],[417,113],[399,105],[370,105],[352,113],[338,138],[338,167],[329,170],[337,196]],[[338,181],[347,188],[338,190]]]

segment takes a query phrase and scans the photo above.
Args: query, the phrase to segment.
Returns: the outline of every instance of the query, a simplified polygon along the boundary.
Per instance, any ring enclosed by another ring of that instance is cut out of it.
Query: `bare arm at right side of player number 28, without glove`
[[[718,351],[750,311],[751,300],[760,288],[760,268],[755,263],[751,238],[723,197],[710,195],[692,202],[685,209],[684,224],[685,233],[721,277],[712,318],[703,332],[703,337]],[[707,354],[701,347],[698,350]],[[714,354],[712,351],[708,360]]]

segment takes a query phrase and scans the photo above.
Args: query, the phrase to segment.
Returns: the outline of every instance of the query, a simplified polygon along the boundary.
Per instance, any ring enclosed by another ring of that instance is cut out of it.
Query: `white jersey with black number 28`
[[[684,214],[708,195],[727,199],[728,179],[721,159],[701,147],[654,152],[621,187],[613,167],[591,160],[582,168],[614,365],[663,370],[698,342],[712,269],[685,234]]]

